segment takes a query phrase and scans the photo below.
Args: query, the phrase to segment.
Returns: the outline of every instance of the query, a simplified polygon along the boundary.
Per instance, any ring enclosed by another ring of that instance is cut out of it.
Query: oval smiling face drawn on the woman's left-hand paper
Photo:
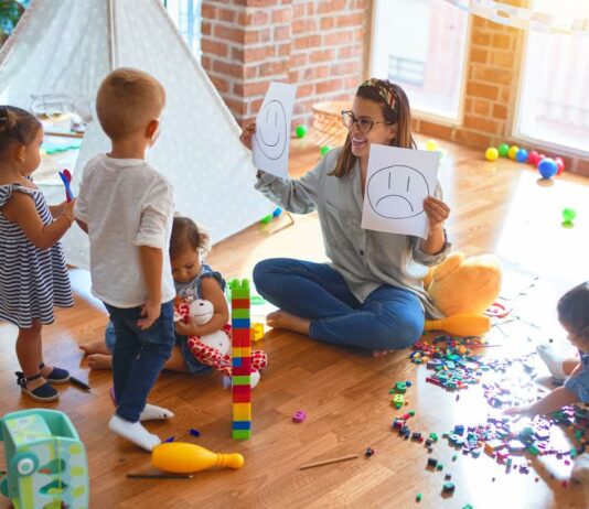
[[[255,140],[268,159],[280,159],[287,148],[287,117],[282,102],[271,100],[261,108]]]

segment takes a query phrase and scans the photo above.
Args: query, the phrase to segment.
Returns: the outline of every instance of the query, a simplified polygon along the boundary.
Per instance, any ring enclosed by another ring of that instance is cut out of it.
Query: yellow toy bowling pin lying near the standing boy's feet
[[[193,474],[212,467],[242,468],[244,463],[239,453],[217,454],[184,442],[159,444],[151,452],[151,464],[171,474]]]

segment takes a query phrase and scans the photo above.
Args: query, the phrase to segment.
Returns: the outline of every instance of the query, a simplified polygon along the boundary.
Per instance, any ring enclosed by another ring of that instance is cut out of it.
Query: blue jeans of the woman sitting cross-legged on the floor
[[[372,350],[406,348],[424,331],[424,310],[409,290],[382,284],[364,302],[326,263],[270,258],[254,268],[258,292],[276,306],[311,321],[320,342]]]

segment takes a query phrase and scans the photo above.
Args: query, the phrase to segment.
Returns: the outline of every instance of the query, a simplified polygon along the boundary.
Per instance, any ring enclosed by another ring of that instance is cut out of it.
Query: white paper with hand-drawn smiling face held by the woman
[[[297,87],[271,83],[256,117],[251,143],[254,164],[281,178],[288,176],[290,122]]]

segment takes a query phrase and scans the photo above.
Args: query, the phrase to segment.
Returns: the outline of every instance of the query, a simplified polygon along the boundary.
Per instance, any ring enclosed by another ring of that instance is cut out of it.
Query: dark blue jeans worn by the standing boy
[[[160,317],[147,331],[137,325],[141,307],[114,307],[105,303],[115,326],[113,381],[117,415],[138,422],[147,397],[174,346],[173,301],[161,306]]]

